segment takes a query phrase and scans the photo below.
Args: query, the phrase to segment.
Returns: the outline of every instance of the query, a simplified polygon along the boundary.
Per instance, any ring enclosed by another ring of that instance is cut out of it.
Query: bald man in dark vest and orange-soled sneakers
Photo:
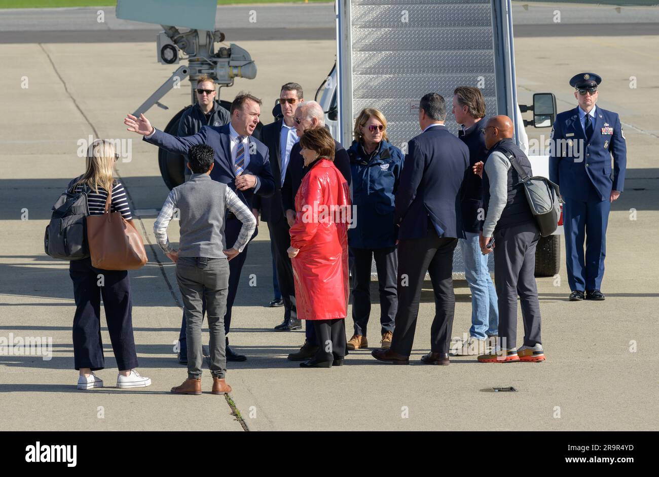
[[[494,251],[494,285],[499,307],[499,339],[481,363],[544,361],[540,338],[540,302],[535,281],[535,252],[540,228],[531,213],[513,161],[533,175],[527,155],[513,141],[513,121],[503,115],[488,120],[483,129],[490,156],[482,172],[486,210],[480,249]],[[517,296],[522,308],[524,341],[517,348]]]

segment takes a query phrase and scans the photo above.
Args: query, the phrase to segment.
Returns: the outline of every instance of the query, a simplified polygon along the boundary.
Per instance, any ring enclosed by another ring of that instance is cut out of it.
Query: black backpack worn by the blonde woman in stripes
[[[75,192],[73,179],[69,188],[59,196],[50,223],[45,228],[43,249],[53,259],[80,260],[89,257],[87,244],[87,194],[90,191],[85,184],[82,192]]]

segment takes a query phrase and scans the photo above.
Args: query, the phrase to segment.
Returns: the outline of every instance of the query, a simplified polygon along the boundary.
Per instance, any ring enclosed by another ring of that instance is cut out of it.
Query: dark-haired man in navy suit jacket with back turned
[[[437,93],[421,98],[422,133],[408,144],[396,193],[398,231],[398,311],[391,348],[374,350],[374,358],[409,364],[416,317],[426,270],[435,295],[430,353],[424,364],[449,364],[455,295],[453,250],[464,238],[461,218],[463,181],[469,173],[469,148],[444,126],[446,104]]]

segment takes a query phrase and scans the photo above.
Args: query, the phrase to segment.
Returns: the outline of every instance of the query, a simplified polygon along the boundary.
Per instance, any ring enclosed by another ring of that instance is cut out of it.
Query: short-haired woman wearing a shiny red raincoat
[[[288,249],[295,278],[297,316],[312,320],[318,338],[314,358],[301,367],[341,366],[346,354],[348,308],[348,224],[350,191],[334,166],[335,143],[323,128],[300,138],[309,172],[295,196],[297,217]]]

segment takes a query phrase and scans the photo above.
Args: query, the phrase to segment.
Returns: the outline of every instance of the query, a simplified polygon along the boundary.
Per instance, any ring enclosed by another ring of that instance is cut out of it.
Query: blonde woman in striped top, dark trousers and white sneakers
[[[120,212],[132,220],[123,185],[113,178],[117,154],[113,143],[96,140],[88,149],[86,170],[69,183],[81,192],[87,185],[90,215],[103,214],[107,191],[112,192],[110,212]],[[127,270],[100,270],[92,267],[90,258],[72,260],[69,275],[73,281],[76,313],[73,317],[73,356],[75,369],[80,371],[78,389],[103,387],[94,371],[105,367],[101,341],[100,305],[103,298],[107,331],[119,367],[117,387],[146,387],[151,379],[140,376],[132,333],[132,301]]]

